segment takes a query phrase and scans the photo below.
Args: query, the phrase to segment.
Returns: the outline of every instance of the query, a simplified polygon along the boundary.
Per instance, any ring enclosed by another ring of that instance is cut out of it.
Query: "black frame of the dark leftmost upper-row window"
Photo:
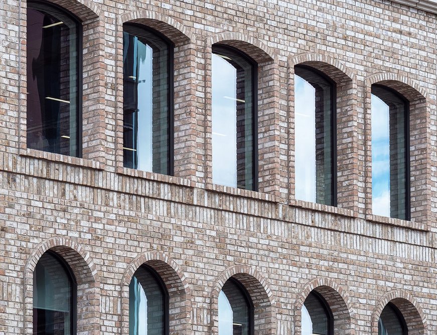
[[[72,157],[82,158],[83,156],[83,21],[74,13],[66,10],[62,6],[59,6],[57,4],[53,4],[48,1],[44,0],[29,0],[27,2],[27,8],[31,7],[32,4],[40,4],[45,7],[53,8],[55,11],[61,12],[61,14],[68,16],[72,21],[75,21],[76,23],[76,29],[77,29],[77,41],[76,41],[76,48],[77,48],[77,62],[76,62],[76,68],[77,68],[77,116],[76,116],[76,138],[77,138],[77,155]],[[38,8],[32,8],[35,10],[39,10]],[[27,21],[26,21],[27,22]],[[26,23],[27,25],[27,23]],[[26,26],[27,27],[27,26]],[[28,61],[27,54],[26,54],[26,61]],[[27,78],[26,78],[27,80]],[[26,113],[27,114],[27,113]],[[27,115],[26,115],[27,120]],[[27,144],[27,123],[26,123],[26,147],[28,147]],[[37,150],[37,149],[35,149]],[[44,151],[44,152],[51,152],[51,151]],[[70,155],[69,155],[70,156]]]

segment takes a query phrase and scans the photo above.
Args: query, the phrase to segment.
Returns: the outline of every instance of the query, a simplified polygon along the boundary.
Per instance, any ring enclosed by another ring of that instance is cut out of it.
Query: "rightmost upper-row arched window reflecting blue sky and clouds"
[[[409,104],[372,85],[372,212],[409,220]]]

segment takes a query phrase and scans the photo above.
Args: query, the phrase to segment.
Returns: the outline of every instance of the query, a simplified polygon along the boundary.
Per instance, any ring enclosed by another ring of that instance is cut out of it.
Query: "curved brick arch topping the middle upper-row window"
[[[277,64],[278,55],[260,40],[242,33],[223,32],[211,35],[205,39],[205,46],[210,48],[213,44],[223,44],[234,47],[253,58],[258,64],[273,61]]]

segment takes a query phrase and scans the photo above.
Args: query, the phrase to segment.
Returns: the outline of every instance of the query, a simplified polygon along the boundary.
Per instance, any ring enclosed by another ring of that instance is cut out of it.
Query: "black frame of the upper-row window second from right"
[[[331,197],[332,197],[332,204],[329,206],[338,206],[338,186],[337,186],[337,175],[338,175],[338,151],[337,151],[337,83],[331,79],[328,75],[326,75],[324,72],[305,65],[305,64],[297,64],[295,65],[296,68],[301,68],[303,70],[307,70],[310,72],[313,72],[319,77],[322,77],[324,80],[326,80],[330,84],[330,95],[331,95],[331,150],[332,150],[332,157],[331,157],[331,171],[332,171],[332,182],[331,182]],[[296,70],[295,70],[296,71]],[[299,75],[297,75],[299,76]],[[301,77],[301,76],[299,76]],[[305,78],[301,77],[303,80],[307,81]],[[308,82],[308,81],[307,81]],[[311,83],[310,83],[311,85]],[[296,140],[296,139],[295,139]]]

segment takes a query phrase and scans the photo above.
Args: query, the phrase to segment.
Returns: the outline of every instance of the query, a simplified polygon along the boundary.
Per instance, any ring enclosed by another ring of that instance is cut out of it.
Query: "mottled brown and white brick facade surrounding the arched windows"
[[[128,334],[128,284],[163,278],[170,333],[218,334],[245,285],[256,334],[301,334],[324,296],[339,335],[376,335],[388,302],[437,333],[437,16],[388,0],[51,0],[83,29],[83,157],[26,146],[26,0],[0,2],[0,333],[32,334],[33,271],[52,250],[78,284],[78,334]],[[175,44],[175,173],[123,168],[122,27]],[[212,184],[211,47],[258,66],[259,192]],[[295,199],[294,67],[337,84],[338,207]],[[411,221],[372,214],[372,84],[410,102]]]

